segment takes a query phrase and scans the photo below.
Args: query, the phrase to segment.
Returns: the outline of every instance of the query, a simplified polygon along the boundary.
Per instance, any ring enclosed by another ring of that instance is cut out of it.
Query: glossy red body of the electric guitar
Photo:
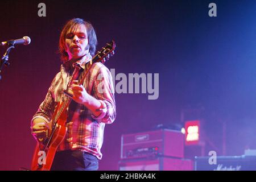
[[[57,113],[62,104],[62,102],[59,102],[59,104],[57,104],[53,117],[55,117],[55,114]],[[55,130],[53,131],[52,137],[49,140],[48,147],[45,148],[44,146],[44,143],[48,141],[40,143],[38,141],[32,158],[32,171],[49,171],[51,169],[57,147],[59,147],[60,143],[63,141],[67,133],[67,127],[65,126],[66,121],[67,111],[63,111],[63,114],[61,114],[60,118],[56,122]],[[40,151],[40,146],[42,146],[43,151]]]

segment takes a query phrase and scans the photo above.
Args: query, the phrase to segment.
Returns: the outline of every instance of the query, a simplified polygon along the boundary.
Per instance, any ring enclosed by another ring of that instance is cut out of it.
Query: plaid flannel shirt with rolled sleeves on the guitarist
[[[88,53],[88,55],[85,55],[76,63],[84,71],[85,64],[91,59],[92,56]],[[57,102],[63,100],[63,90],[67,89],[72,76],[71,70],[68,63],[61,64],[60,72],[53,78],[46,98],[40,104],[32,120],[42,118],[47,122],[51,121]],[[94,63],[84,80],[83,86],[86,92],[101,101],[105,109],[101,110],[101,114],[98,117],[94,117],[92,111],[72,100],[67,109],[67,134],[60,144],[58,151],[85,151],[101,159],[102,154],[100,150],[104,138],[105,124],[114,122],[116,115],[114,87],[109,69],[102,63]]]

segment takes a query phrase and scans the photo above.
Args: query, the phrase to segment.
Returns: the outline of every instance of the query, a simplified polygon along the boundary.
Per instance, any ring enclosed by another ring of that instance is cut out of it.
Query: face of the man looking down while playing
[[[65,36],[65,51],[68,60],[76,60],[89,52],[88,37],[84,24],[79,24]]]

